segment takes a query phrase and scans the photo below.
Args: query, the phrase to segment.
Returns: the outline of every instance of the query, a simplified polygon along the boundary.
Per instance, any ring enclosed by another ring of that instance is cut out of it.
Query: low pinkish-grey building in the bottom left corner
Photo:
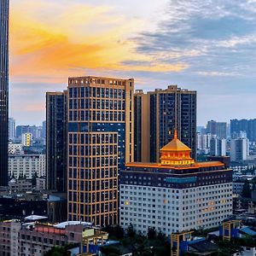
[[[94,236],[90,224],[69,222],[57,225],[22,223],[10,220],[0,223],[0,254],[10,256],[44,256],[52,247],[81,244],[86,236]],[[103,239],[103,238],[102,238]]]

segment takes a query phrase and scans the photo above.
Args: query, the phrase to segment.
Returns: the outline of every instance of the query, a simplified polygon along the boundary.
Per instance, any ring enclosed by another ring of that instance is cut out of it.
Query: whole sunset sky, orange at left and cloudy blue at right
[[[256,118],[256,0],[12,0],[9,116],[45,119],[67,78],[197,90],[197,125]]]

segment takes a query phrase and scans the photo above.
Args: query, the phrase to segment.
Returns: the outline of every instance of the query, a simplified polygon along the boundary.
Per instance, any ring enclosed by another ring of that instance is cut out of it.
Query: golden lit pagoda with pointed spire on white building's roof
[[[195,164],[195,160],[190,156],[191,148],[177,138],[177,130],[174,130],[172,141],[160,149],[160,154],[162,166],[188,166]]]

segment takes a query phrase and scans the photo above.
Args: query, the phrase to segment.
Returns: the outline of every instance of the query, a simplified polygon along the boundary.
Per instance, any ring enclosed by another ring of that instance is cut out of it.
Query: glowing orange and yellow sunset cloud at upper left
[[[56,82],[83,75],[81,70],[85,69],[179,72],[188,67],[184,63],[159,63],[136,52],[137,45],[129,38],[142,30],[142,20],[119,15],[108,6],[61,2],[13,3],[10,18],[13,79]],[[143,64],[122,64],[129,60]]]

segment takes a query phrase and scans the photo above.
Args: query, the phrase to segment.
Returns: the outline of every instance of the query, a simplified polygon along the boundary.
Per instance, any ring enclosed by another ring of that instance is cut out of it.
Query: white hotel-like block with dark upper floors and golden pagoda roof
[[[232,170],[223,161],[195,162],[177,139],[160,149],[160,163],[128,163],[120,172],[119,224],[166,236],[218,226],[232,214]],[[221,159],[221,157],[219,157]]]

